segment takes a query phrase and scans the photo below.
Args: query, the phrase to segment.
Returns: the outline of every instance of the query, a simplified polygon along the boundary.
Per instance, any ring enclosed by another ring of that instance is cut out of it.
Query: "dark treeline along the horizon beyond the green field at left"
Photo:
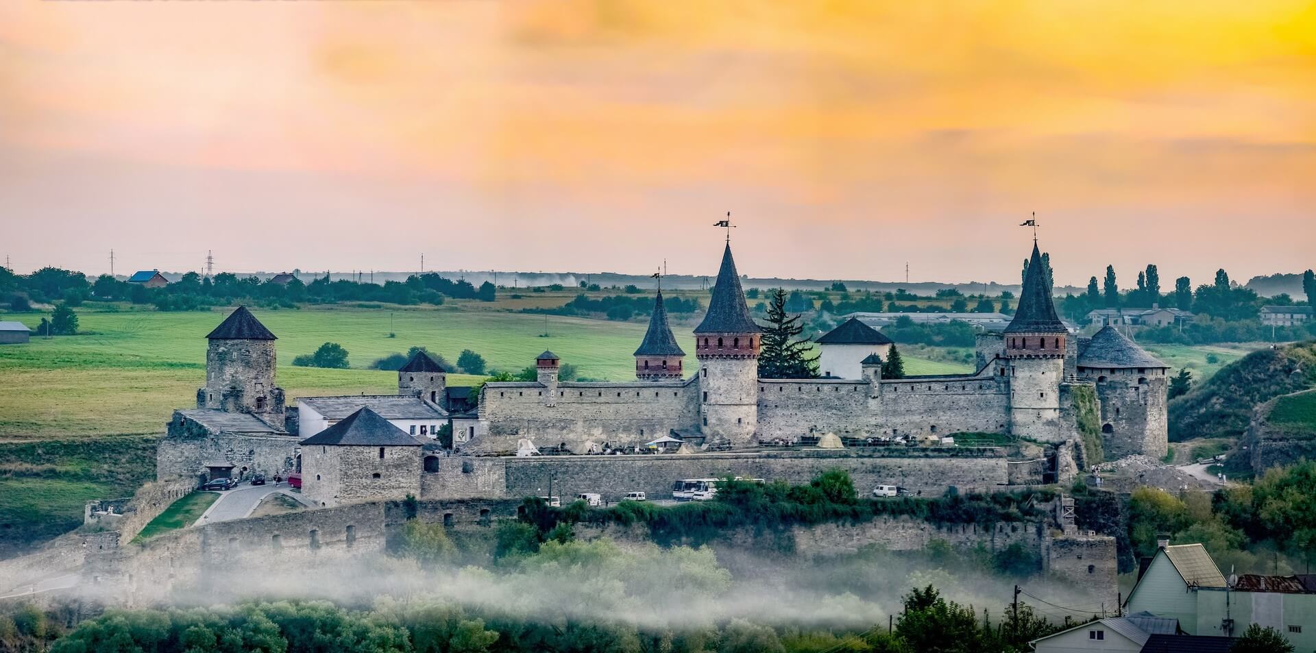
[[[497,288],[484,282],[479,287],[466,280],[453,280],[433,273],[411,275],[405,282],[383,284],[358,283],[347,279],[330,280],[318,276],[311,283],[292,278],[275,283],[274,278],[238,276],[220,273],[201,276],[187,273],[182,279],[159,288],[118,280],[103,274],[88,282],[82,273],[43,267],[30,275],[14,275],[0,269],[0,296],[16,311],[25,311],[32,301],[63,301],[79,305],[83,301],[132,301],[153,304],[161,311],[195,311],[212,305],[230,305],[249,301],[267,307],[293,307],[300,303],[334,304],[341,301],[380,301],[390,304],[442,304],[445,299],[478,299],[494,301]]]

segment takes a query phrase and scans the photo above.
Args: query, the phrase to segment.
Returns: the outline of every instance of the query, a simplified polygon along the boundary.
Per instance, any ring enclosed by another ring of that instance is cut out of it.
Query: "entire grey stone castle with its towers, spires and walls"
[[[195,409],[175,411],[158,449],[158,475],[301,471],[304,492],[324,506],[417,492],[525,496],[559,473],[567,475],[558,481],[562,494],[624,494],[724,474],[807,481],[834,466],[850,469],[861,483],[934,492],[1058,481],[1094,456],[1086,448],[1098,442],[1107,458],[1161,457],[1167,446],[1169,367],[1111,326],[1092,338],[1074,337],[1055,313],[1036,242],[1019,309],[1003,333],[978,336],[973,374],[883,378],[890,341],[845,323],[820,346],[829,366],[857,369],[845,374],[857,378],[758,378],[762,330],[729,244],[708,312],[695,328],[697,365],[688,378],[661,291],[634,352],[637,380],[565,382],[561,359],[545,352],[536,359],[536,380],[486,383],[474,413],[446,399],[443,371],[424,353],[397,373],[397,395],[300,398],[286,407],[275,384],[275,336],[246,308],[208,340],[207,384]],[[442,425],[451,427],[450,446],[436,440]],[[799,448],[828,433],[859,441],[1009,434],[1049,446],[1053,458],[1048,477],[1030,466],[1016,473],[995,448]],[[629,452],[663,436],[697,453],[512,456],[536,446]]]

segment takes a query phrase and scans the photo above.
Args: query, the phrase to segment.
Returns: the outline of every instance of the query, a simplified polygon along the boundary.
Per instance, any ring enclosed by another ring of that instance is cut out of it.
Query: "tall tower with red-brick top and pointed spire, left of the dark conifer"
[[[758,428],[758,324],[745,305],[732,246],[722,251],[708,313],[695,328],[701,431],[705,442],[750,446]]]

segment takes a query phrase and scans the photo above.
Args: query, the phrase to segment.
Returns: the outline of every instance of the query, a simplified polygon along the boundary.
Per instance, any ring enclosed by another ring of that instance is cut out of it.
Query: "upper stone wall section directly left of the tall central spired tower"
[[[480,395],[480,428],[463,450],[513,452],[520,438],[537,446],[586,441],[634,446],[671,431],[692,433],[699,424],[695,379],[684,382],[559,382],[546,398],[540,383],[488,383]],[[549,405],[551,403],[551,405]]]

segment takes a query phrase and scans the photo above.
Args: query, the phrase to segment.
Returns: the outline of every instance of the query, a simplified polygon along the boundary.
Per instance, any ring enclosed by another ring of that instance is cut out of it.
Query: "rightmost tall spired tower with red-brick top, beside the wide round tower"
[[[1033,242],[1019,311],[1005,326],[1011,433],[1042,441],[1063,440],[1059,384],[1069,330],[1055,315],[1042,255]]]

